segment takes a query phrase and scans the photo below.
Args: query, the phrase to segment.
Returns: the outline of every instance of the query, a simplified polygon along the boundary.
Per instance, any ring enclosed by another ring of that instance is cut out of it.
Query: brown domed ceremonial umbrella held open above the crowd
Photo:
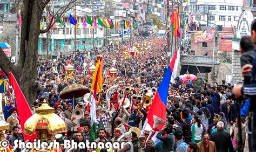
[[[73,98],[73,106],[75,106],[75,98],[79,98],[84,96],[86,93],[90,93],[90,89],[79,84],[72,84],[66,86],[59,94],[59,98],[61,99],[72,99]]]

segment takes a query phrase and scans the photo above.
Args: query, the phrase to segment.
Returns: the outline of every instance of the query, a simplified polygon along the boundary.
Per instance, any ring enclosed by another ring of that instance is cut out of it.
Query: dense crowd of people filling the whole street
[[[93,142],[90,135],[90,108],[85,104],[83,96],[73,101],[62,100],[59,94],[71,84],[81,84],[91,88],[90,67],[95,65],[96,55],[103,54],[104,83],[107,87],[97,96],[98,138],[94,140],[95,142],[124,142],[124,148],[112,149],[117,151],[249,151],[248,133],[245,127],[248,119],[242,119],[240,130],[238,109],[242,107],[242,103],[237,103],[229,95],[234,86],[226,84],[225,80],[215,82],[214,85],[205,84],[201,89],[196,89],[193,84],[183,84],[179,78],[174,79],[174,82],[170,83],[168,92],[166,122],[156,133],[157,140],[152,137],[147,139],[151,130],[146,126],[149,109],[157,107],[115,106],[117,103],[111,102],[116,97],[114,93],[111,94],[110,101],[107,100],[107,90],[115,85],[119,85],[119,98],[126,94],[130,102],[132,95],[145,95],[143,94],[145,89],[152,90],[151,95],[154,95],[153,89],[160,85],[167,71],[167,46],[164,39],[153,36],[134,39],[133,42],[142,44],[144,40],[151,40],[153,45],[151,49],[145,49],[145,53],[136,57],[125,57],[123,47],[129,44],[124,43],[102,49],[96,48],[86,53],[78,50],[70,56],[61,56],[56,60],[39,59],[37,65],[39,87],[37,98],[31,107],[32,113],[35,114],[36,109],[46,100],[60,118],[69,119],[77,124],[67,133],[55,136],[59,143],[71,139],[78,143],[86,140]],[[66,79],[65,67],[69,64],[74,69],[73,78]],[[111,67],[117,69],[115,78],[111,78],[107,71]],[[129,87],[129,92],[126,91],[126,87]],[[152,99],[152,96],[150,98]],[[10,123],[7,139],[13,146],[15,140],[23,139],[18,118],[18,113],[21,112],[17,112],[15,96],[12,96],[9,90],[3,93],[2,103],[5,103],[3,112],[5,121]],[[82,118],[75,118],[73,107],[83,110]],[[241,116],[246,118],[247,113]],[[140,132],[131,131],[132,127],[138,128]],[[239,132],[242,133],[242,139],[239,137]],[[106,151],[106,149],[87,148],[64,149],[63,144],[60,145],[61,151]]]

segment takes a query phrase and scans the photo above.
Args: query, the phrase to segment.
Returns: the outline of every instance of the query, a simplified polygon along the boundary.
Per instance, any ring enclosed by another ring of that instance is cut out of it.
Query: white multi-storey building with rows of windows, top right
[[[241,0],[190,0],[186,11],[190,12],[193,22],[202,26],[237,26],[236,18],[241,14]]]

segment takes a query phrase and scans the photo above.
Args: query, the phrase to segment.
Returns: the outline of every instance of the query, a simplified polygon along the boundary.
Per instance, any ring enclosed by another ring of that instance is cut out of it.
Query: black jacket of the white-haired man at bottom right
[[[217,152],[234,151],[230,133],[224,132],[224,130],[218,130],[218,132],[213,133],[211,141],[215,142]]]

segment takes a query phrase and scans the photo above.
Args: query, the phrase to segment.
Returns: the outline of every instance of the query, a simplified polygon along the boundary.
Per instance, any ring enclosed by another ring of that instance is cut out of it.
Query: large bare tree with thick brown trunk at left
[[[38,40],[39,34],[48,32],[51,26],[57,21],[51,20],[46,29],[40,30],[41,18],[44,9],[50,0],[22,0],[17,1],[17,5],[21,5],[21,40],[20,53],[17,66],[13,65],[8,57],[5,56],[3,50],[0,50],[0,67],[6,75],[12,72],[25,95],[26,100],[32,105],[36,97],[38,88],[37,84],[37,60],[38,60]],[[21,4],[19,4],[21,3]],[[76,0],[71,0],[67,5],[60,8],[58,11],[49,11],[52,18],[62,16],[62,14],[69,10],[69,7],[75,5]],[[53,24],[52,24],[53,22]]]

